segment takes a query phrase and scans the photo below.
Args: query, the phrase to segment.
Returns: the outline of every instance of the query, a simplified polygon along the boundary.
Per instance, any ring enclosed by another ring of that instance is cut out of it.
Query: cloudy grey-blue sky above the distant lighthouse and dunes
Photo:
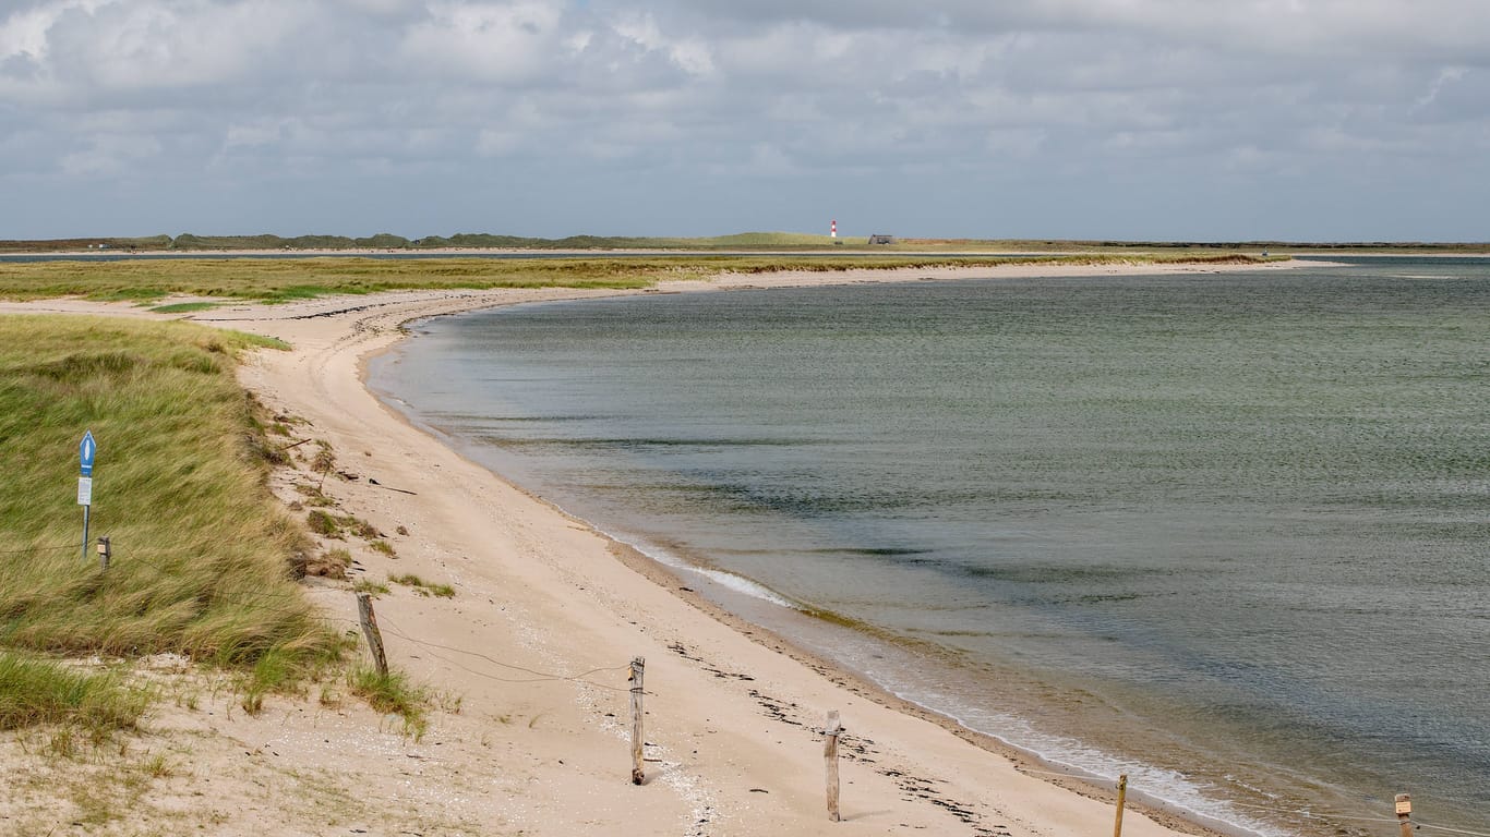
[[[0,238],[1490,241],[1486,0],[0,0]]]

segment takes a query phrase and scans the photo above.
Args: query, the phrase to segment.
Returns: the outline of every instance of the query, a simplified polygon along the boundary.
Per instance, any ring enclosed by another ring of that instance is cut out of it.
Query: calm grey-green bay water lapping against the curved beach
[[[416,420],[910,700],[1266,834],[1490,828],[1490,261],[417,331]]]

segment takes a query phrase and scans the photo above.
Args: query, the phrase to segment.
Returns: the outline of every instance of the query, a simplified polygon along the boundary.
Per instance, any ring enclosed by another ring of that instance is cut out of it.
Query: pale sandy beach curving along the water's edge
[[[642,293],[1170,271],[1195,268],[721,276]],[[337,474],[326,494],[393,545],[395,556],[352,545],[352,579],[413,573],[451,585],[454,596],[389,585],[375,600],[389,661],[438,693],[422,739],[334,688],[271,698],[258,715],[207,690],[200,701],[167,701],[152,716],[149,746],[179,767],[142,810],[204,833],[256,836],[1109,833],[1110,792],[1062,786],[1070,782],[1052,780],[997,742],[960,733],[718,612],[662,567],[410,426],[364,386],[365,362],[401,340],[410,320],[612,293],[407,292],[228,304],[191,316],[294,347],[259,351],[241,380],[276,416],[297,421],[298,438],[331,445]],[[0,310],[140,313],[66,299]],[[273,486],[294,502],[294,483],[305,478],[304,466],[286,469]],[[307,584],[329,620],[356,630],[349,582]],[[630,782],[629,751],[627,675],[638,657],[647,690],[641,786]],[[824,801],[828,710],[846,727],[837,824]],[[0,806],[6,810],[13,809]],[[1129,810],[1123,831],[1202,828]]]

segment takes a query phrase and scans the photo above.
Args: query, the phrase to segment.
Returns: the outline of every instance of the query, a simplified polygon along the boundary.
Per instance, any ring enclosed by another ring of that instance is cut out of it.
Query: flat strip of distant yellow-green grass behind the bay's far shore
[[[1003,264],[1247,264],[1240,255],[665,256],[590,259],[125,259],[0,264],[0,298],[88,296],[150,302],[173,293],[285,301],[323,293],[490,287],[645,287],[721,271],[997,267]]]

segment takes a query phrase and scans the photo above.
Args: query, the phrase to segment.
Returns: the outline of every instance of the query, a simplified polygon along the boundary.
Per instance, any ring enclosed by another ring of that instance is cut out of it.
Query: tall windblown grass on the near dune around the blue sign
[[[183,654],[267,691],[335,654],[291,578],[302,535],[264,486],[276,451],[232,374],[256,343],[186,323],[0,317],[0,725],[69,706],[127,725],[128,712],[86,707],[143,707],[121,681],[52,661],[64,657]],[[107,570],[82,554],[89,429]]]

